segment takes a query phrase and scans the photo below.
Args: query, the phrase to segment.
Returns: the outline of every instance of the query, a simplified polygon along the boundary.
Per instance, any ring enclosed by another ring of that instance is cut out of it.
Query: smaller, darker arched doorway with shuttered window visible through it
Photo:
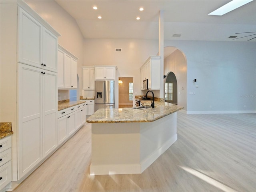
[[[178,104],[177,79],[173,72],[169,72],[164,78],[164,100]]]

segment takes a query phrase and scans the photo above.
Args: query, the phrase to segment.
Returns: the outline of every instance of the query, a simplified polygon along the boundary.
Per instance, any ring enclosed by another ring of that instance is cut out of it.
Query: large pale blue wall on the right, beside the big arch
[[[255,42],[165,41],[165,46],[179,48],[187,58],[188,112],[255,112]]]

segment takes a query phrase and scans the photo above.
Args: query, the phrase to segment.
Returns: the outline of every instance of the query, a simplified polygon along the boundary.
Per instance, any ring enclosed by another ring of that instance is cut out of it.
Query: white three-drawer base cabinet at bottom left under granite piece
[[[2,191],[12,181],[12,136],[0,139],[0,178]]]

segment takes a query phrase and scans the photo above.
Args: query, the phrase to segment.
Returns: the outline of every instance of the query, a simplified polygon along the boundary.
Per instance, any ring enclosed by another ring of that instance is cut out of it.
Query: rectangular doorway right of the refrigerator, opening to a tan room
[[[134,102],[134,77],[118,78],[118,108],[132,108]]]

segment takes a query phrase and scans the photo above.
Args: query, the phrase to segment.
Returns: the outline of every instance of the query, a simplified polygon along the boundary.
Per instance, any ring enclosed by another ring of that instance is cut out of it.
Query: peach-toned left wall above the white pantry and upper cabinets
[[[60,33],[61,36],[58,38],[58,44],[79,58],[77,67],[80,80],[79,95],[82,96],[84,37],[76,20],[55,1],[25,0],[25,2]]]

